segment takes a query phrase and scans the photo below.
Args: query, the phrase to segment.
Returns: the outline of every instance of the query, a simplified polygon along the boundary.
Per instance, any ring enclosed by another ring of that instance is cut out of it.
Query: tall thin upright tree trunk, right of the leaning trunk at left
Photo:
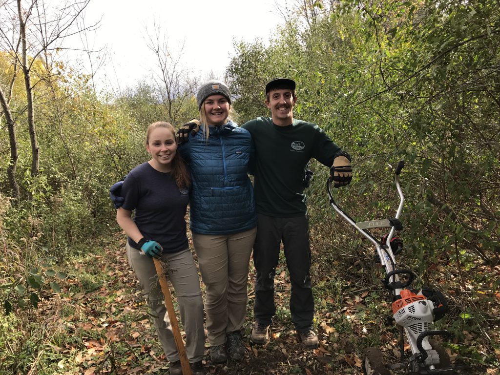
[[[28,113],[28,130],[29,130],[29,140],[31,142],[31,177],[38,174],[39,169],[39,147],[36,140],[36,131],[34,126],[34,115],[33,115],[33,89],[31,87],[31,78],[29,76],[30,67],[27,64],[26,55],[26,28],[24,23],[24,18],[22,16],[21,0],[17,0],[17,12],[19,14],[19,36],[21,38],[21,48],[22,48],[22,61],[21,67],[24,74],[24,85],[26,87],[26,101],[27,101],[27,113]]]

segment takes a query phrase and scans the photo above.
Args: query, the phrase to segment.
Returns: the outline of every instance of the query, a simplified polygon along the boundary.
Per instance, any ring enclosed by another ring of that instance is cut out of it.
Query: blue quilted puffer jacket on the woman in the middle
[[[232,122],[189,136],[179,151],[191,172],[190,227],[200,234],[231,234],[257,225],[250,133]]]

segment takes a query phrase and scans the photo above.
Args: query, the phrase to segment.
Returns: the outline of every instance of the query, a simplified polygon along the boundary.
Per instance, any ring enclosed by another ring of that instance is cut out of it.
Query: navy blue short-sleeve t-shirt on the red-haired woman
[[[140,164],[127,174],[121,194],[122,207],[135,210],[133,221],[146,239],[158,242],[163,252],[188,247],[184,216],[189,189],[179,189],[170,173],[157,171],[148,162]],[[128,243],[138,248],[130,237]]]

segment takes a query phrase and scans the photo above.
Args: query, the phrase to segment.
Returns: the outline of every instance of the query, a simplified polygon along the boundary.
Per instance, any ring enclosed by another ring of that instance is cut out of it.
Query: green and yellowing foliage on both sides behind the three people
[[[444,264],[464,289],[472,283],[496,292],[498,278],[474,269],[493,269],[500,261],[498,1],[318,0],[296,10],[269,43],[235,43],[226,81],[238,122],[267,114],[267,80],[293,78],[295,117],[316,122],[352,155],[355,177],[335,193],[340,205],[357,220],[391,216],[397,206],[392,166],[404,159],[405,262],[422,282],[439,277],[433,269]],[[167,118],[149,82],[120,97],[103,96],[88,76],[59,67],[59,75],[41,80],[35,90],[41,157],[34,178],[22,78],[14,82],[19,201],[9,195],[8,134],[0,116],[0,274],[6,275],[0,277],[0,301],[15,313],[13,320],[0,319],[1,334],[14,342],[6,350],[0,336],[1,353],[26,352],[30,341],[14,326],[30,326],[26,316],[39,298],[57,291],[68,259],[92,251],[92,239],[116,230],[108,187],[146,160],[145,127]],[[10,55],[0,51],[2,87],[11,73]],[[43,65],[33,74],[43,76]],[[196,112],[191,98],[174,125]],[[335,265],[370,258],[371,250],[332,214],[324,191],[327,168],[314,161],[311,168],[314,266],[317,274],[331,274],[338,272]],[[377,282],[374,273],[366,277]],[[442,281],[441,289],[450,290],[450,279]],[[498,323],[491,309],[467,311],[479,330]],[[459,325],[454,329],[461,334]],[[14,368],[17,359],[0,354],[0,367]]]

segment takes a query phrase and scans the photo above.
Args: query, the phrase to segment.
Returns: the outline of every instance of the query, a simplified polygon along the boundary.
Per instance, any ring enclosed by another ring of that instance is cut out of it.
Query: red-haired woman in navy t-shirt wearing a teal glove
[[[133,168],[123,182],[124,201],[116,212],[116,221],[127,234],[128,261],[156,316],[154,325],[170,361],[170,374],[180,375],[182,371],[153,256],[168,263],[168,276],[186,332],[187,358],[193,375],[204,374],[203,301],[184,219],[189,203],[189,173],[177,155],[174,128],[168,122],[149,125],[146,149],[151,159]]]

